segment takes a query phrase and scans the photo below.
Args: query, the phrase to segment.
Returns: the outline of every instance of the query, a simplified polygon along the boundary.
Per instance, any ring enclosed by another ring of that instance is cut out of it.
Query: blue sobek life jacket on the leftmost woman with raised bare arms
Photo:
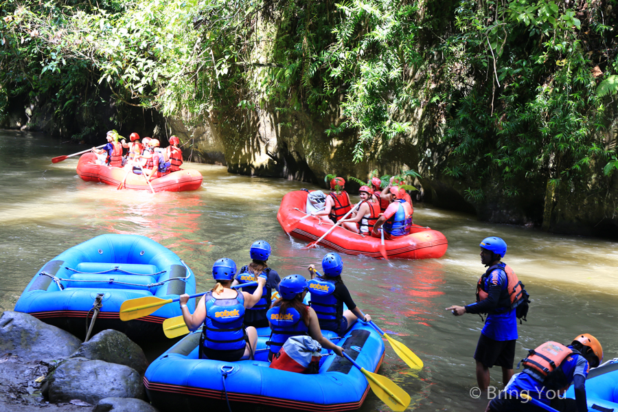
[[[211,350],[239,350],[247,345],[244,325],[244,295],[233,299],[217,299],[212,292],[205,295],[206,319],[202,345]]]

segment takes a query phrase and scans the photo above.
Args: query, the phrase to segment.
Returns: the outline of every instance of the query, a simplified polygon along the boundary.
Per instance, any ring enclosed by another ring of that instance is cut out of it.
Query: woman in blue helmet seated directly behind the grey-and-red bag
[[[270,347],[268,360],[281,350],[290,336],[308,334],[325,349],[343,356],[343,349],[322,336],[320,323],[315,310],[303,303],[309,283],[301,275],[285,277],[279,285],[281,299],[268,310],[268,322],[271,325],[271,339],[266,342]]]

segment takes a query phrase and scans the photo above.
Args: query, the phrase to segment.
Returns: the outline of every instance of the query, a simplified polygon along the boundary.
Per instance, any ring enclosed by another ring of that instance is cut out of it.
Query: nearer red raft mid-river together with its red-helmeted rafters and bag
[[[328,195],[320,190],[286,194],[277,220],[290,236],[312,241],[349,255],[372,258],[440,258],[448,242],[439,231],[414,225],[412,201],[402,181],[391,178],[382,189],[378,178],[358,190],[360,202],[352,205],[345,180],[330,181]]]

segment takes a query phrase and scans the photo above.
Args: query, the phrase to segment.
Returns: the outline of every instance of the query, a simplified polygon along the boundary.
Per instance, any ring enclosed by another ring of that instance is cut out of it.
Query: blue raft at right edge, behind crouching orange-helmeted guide
[[[567,398],[575,399],[573,385]],[[618,412],[618,358],[591,369],[586,378],[588,411]]]

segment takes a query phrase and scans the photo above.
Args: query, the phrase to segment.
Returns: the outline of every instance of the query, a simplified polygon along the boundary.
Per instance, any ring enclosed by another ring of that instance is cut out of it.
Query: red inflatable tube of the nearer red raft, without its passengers
[[[304,190],[286,194],[281,201],[281,206],[279,206],[277,220],[288,235],[313,242],[326,233],[332,227],[332,224],[314,217],[299,222],[300,218],[306,216],[308,195],[308,192]],[[371,258],[382,258],[379,250],[380,242],[379,238],[364,236],[343,229],[343,227],[336,227],[319,244],[348,255],[367,255]],[[442,233],[418,225],[412,226],[411,233],[408,236],[385,240],[384,243],[387,256],[399,259],[441,258],[448,247],[448,242]]]

